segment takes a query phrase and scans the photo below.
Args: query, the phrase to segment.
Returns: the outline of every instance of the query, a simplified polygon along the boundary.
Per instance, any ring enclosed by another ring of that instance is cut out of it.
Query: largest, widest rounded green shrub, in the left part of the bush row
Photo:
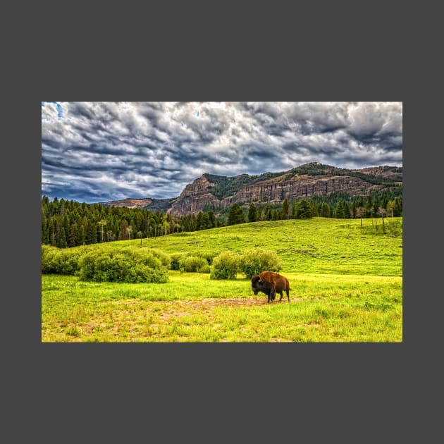
[[[96,282],[165,283],[168,271],[146,251],[98,249],[82,256],[79,277]]]

